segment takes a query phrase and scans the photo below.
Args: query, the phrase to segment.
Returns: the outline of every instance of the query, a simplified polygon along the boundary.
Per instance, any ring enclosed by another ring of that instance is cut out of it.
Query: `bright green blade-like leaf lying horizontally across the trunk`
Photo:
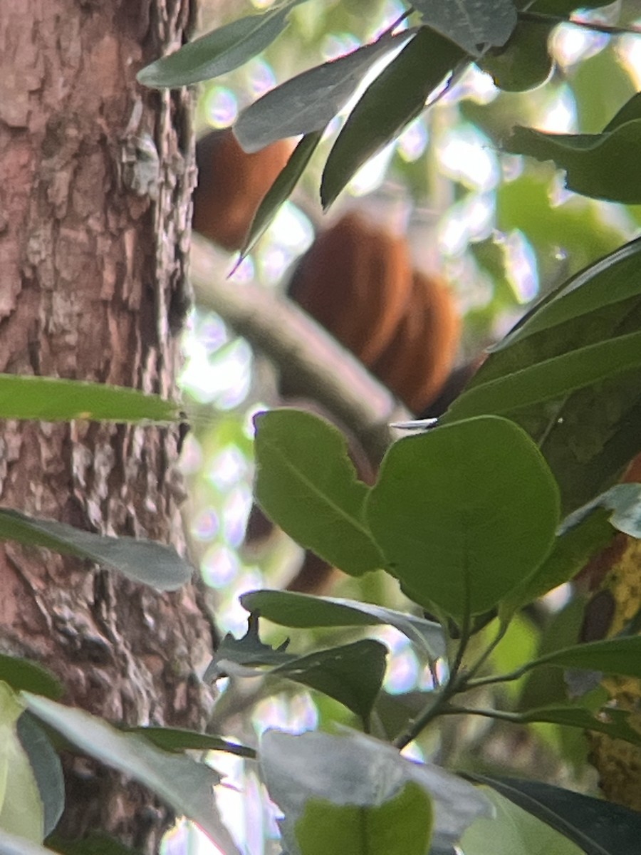
[[[124,386],[0,374],[0,418],[41,422],[177,422],[178,404]]]

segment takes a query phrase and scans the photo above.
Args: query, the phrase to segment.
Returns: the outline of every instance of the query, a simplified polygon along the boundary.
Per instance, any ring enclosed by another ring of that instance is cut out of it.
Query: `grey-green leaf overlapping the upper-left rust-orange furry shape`
[[[372,44],[310,68],[268,91],[238,116],[234,125],[238,142],[251,152],[284,137],[322,132],[343,109],[368,68],[410,34],[384,33]]]

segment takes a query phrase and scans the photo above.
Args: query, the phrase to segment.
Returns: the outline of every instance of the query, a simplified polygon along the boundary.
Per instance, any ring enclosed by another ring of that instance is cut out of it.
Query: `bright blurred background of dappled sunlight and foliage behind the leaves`
[[[270,4],[254,0],[251,5],[266,9]],[[234,15],[250,10],[247,3],[244,9],[240,6],[234,6]],[[297,7],[289,30],[263,56],[203,86],[197,113],[200,132],[227,127],[245,105],[273,85],[352,50],[403,11],[397,2],[317,0]],[[603,15],[603,10],[593,14]],[[547,131],[593,132],[641,88],[641,38],[612,38],[562,25],[553,32],[551,44],[556,71],[534,91],[504,93],[489,74],[468,69],[395,144],[361,169],[327,217],[332,221],[345,209],[370,204],[388,212],[393,227],[399,221],[403,224],[415,262],[427,271],[438,270],[456,294],[465,320],[460,363],[505,333],[533,300],[615,249],[641,223],[638,206],[578,197],[564,188],[562,175],[551,163],[502,154],[501,139],[515,121]],[[332,134],[344,118],[332,123]],[[292,265],[323,225],[317,192],[322,162],[322,156],[313,160],[291,201],[256,251],[232,274],[232,281],[253,280],[265,288],[285,289]],[[235,259],[222,251],[220,258],[219,275],[224,277]],[[221,630],[244,634],[247,614],[238,596],[258,587],[282,587],[302,554],[279,533],[262,550],[252,553],[243,546],[253,475],[251,417],[273,403],[276,383],[250,345],[220,317],[197,307],[185,332],[184,353],[181,384],[195,413],[182,457],[190,484],[187,525],[192,551]],[[393,596],[393,590],[393,585],[379,580],[350,579],[340,582],[336,592],[375,600]],[[401,634],[377,628],[368,635],[390,649],[388,692],[432,685],[432,675]],[[280,628],[267,628],[265,638],[279,643],[284,636]],[[303,650],[309,640],[318,644],[322,634],[297,632],[292,646]],[[511,652],[522,660],[533,640],[532,628],[516,622]],[[253,710],[244,713],[243,729],[238,729],[230,712],[227,725],[221,722],[221,727],[236,729],[221,735],[255,744],[270,725],[295,731],[322,726],[329,715],[325,704],[326,700],[315,702],[297,691],[258,699]],[[333,705],[332,716],[336,712]],[[343,717],[350,723],[350,716]],[[541,728],[540,739],[556,739],[550,736],[553,729]],[[435,747],[427,741],[414,750],[418,757],[429,757]],[[273,811],[266,806],[252,764],[221,754],[212,762],[228,775],[228,786],[218,787],[217,799],[243,851],[250,855],[273,851],[277,836]],[[209,855],[216,852],[211,846],[180,823],[168,837],[165,852]]]

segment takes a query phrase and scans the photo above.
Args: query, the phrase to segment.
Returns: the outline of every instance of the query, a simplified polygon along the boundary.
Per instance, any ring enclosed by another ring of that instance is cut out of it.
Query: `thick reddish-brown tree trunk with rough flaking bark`
[[[190,99],[135,74],[185,40],[192,0],[0,3],[0,371],[175,394],[194,181]],[[0,503],[184,549],[174,428],[5,423]],[[44,551],[0,550],[0,645],[116,722],[199,728],[211,631],[159,595]],[[70,758],[62,834],[152,851],[147,793]]]

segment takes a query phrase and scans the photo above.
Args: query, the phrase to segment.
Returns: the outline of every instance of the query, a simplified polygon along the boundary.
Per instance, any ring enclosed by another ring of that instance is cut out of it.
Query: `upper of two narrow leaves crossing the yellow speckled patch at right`
[[[621,674],[641,677],[641,635],[591,641],[564,650],[548,653],[528,663],[526,670],[550,664],[560,668],[583,668],[603,671],[604,674]]]

